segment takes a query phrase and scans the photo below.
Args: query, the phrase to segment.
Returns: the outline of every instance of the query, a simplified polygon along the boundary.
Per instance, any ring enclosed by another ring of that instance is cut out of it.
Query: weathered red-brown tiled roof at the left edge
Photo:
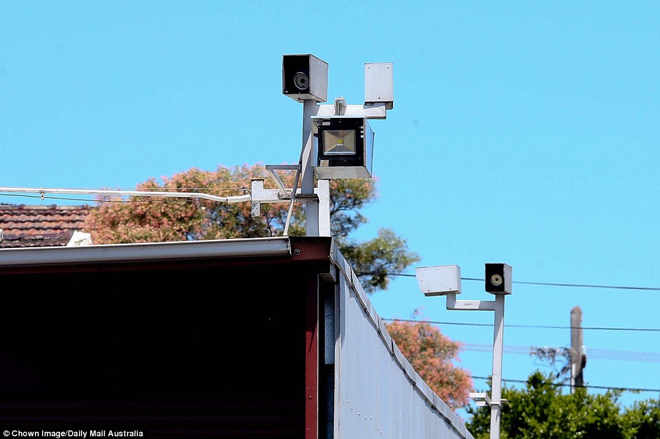
[[[81,230],[89,205],[0,204],[0,248],[67,245]]]

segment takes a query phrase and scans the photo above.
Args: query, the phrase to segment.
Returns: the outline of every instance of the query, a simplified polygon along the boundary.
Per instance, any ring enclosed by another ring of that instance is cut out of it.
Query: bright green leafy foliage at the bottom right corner
[[[589,394],[577,388],[563,394],[552,375],[532,373],[524,389],[503,388],[508,401],[500,423],[503,439],[660,438],[660,406],[649,400],[622,409],[621,392]],[[490,407],[468,407],[467,427],[476,439],[489,437]]]

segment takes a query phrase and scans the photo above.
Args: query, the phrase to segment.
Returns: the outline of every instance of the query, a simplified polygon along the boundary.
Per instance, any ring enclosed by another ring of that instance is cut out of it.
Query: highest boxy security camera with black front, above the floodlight
[[[328,63],[314,55],[284,55],[282,93],[298,102],[328,100]]]

